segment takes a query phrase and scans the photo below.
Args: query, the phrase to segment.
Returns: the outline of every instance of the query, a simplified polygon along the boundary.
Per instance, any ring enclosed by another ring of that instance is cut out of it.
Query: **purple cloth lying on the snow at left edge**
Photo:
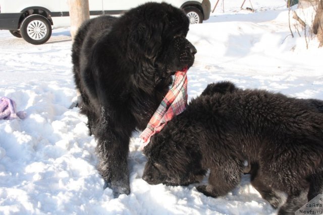
[[[0,119],[16,119],[18,117],[25,118],[26,112],[17,112],[16,103],[7,97],[2,97],[0,99]]]

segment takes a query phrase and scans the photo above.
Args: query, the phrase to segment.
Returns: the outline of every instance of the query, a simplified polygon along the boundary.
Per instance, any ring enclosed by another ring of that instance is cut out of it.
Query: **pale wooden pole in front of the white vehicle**
[[[71,35],[74,38],[77,29],[85,21],[90,19],[88,0],[68,0],[71,20]]]

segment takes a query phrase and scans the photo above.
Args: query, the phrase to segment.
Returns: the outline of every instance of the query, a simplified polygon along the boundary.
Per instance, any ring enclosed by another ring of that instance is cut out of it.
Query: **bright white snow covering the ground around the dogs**
[[[254,13],[240,10],[242,1],[220,1],[208,21],[190,26],[188,39],[198,52],[188,71],[189,99],[223,80],[244,89],[323,99],[323,49],[316,38],[309,31],[305,37],[293,19],[291,36],[284,0],[251,3]],[[245,7],[251,7],[249,1]],[[312,19],[311,9],[293,10]],[[138,133],[130,144],[131,194],[114,199],[111,189],[102,188],[87,118],[78,108],[68,109],[76,100],[71,45],[69,28],[54,29],[39,46],[0,31],[0,97],[27,112],[23,120],[0,121],[0,214],[277,213],[248,175],[219,198],[197,192],[196,184],[147,184],[141,179],[146,159],[138,150]]]

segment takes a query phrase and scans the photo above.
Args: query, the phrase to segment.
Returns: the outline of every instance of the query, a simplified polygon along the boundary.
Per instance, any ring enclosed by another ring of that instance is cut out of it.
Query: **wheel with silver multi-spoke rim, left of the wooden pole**
[[[50,38],[51,25],[44,16],[33,14],[26,17],[20,25],[20,33],[24,40],[34,45],[40,45]]]

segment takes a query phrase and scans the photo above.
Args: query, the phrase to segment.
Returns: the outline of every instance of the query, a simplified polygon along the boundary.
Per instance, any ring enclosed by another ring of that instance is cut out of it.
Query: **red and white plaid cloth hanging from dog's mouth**
[[[148,125],[140,134],[141,150],[147,146],[150,137],[161,131],[174,116],[182,113],[187,106],[187,68],[177,71],[170,91],[152,115]]]

